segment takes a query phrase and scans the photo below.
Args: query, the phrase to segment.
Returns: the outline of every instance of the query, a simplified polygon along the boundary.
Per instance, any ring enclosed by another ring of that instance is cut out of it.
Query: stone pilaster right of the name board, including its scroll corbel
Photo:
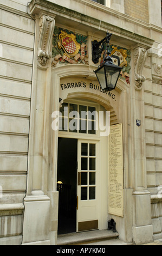
[[[134,50],[134,87],[131,87],[132,113],[132,181],[133,181],[133,241],[136,244],[152,241],[151,198],[147,191],[145,153],[145,114],[142,69],[147,58],[145,48]],[[133,64],[133,63],[132,63]]]

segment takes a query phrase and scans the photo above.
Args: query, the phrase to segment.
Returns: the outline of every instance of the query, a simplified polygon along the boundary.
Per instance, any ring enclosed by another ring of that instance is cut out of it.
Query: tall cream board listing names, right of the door
[[[113,125],[109,134],[108,212],[123,217],[122,124]]]

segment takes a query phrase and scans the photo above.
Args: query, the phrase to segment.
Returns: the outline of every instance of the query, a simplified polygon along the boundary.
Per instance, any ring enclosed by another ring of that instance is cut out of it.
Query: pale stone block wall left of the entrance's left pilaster
[[[1,1],[0,245],[22,240],[35,26],[27,2]]]

